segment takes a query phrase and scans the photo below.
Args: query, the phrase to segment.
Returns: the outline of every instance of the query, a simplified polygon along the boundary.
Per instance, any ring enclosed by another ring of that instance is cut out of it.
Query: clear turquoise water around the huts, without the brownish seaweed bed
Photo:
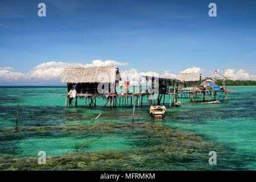
[[[211,149],[207,148],[199,151],[199,154],[204,156],[203,159],[198,155],[192,155],[189,160],[185,158],[169,160],[167,155],[171,153],[167,154],[167,152],[161,153],[159,158],[147,160],[143,160],[141,155],[129,157],[122,159],[122,163],[127,163],[129,167],[121,169],[255,170],[256,86],[229,86],[228,89],[236,92],[230,92],[229,101],[221,104],[186,104],[171,109],[166,104],[167,111],[163,119],[151,118],[146,104],[135,108],[135,123],[151,123],[156,127],[165,126],[181,130],[185,134],[195,134],[203,141],[212,143],[213,150],[218,150],[217,165],[208,164],[208,152]],[[77,108],[64,108],[64,94],[67,88],[2,86],[0,92],[2,93],[0,96],[0,153],[5,156],[1,159],[1,169],[7,169],[5,162],[7,163],[7,159],[10,158],[17,160],[36,158],[38,151],[46,151],[47,155],[52,156],[72,154],[84,143],[92,140],[94,141],[83,147],[79,153],[122,152],[128,154],[131,150],[138,152],[143,148],[158,146],[159,143],[164,145],[164,142],[168,141],[168,138],[164,141],[159,138],[151,140],[150,135],[139,128],[122,127],[121,123],[131,123],[132,107],[104,108],[105,101],[101,99],[97,100],[97,107],[84,108],[84,100],[78,99]],[[167,102],[168,97],[165,100]],[[188,102],[188,99],[179,98],[179,101]],[[143,102],[147,102],[146,98]],[[18,103],[19,130],[14,132]],[[101,116],[90,123],[100,113],[102,113]],[[104,134],[106,127],[118,123],[120,125],[114,125],[114,129],[111,128],[114,130],[112,134],[97,139]],[[101,128],[101,124],[105,124],[104,129]],[[86,129],[86,131],[79,129],[80,126],[91,125],[95,126],[95,129]],[[175,146],[177,151],[180,148],[182,153],[184,148],[181,144]],[[108,153],[108,155],[111,154]],[[183,156],[183,154],[179,155]],[[134,160],[140,164],[139,167],[134,164]],[[159,165],[156,166],[156,163]],[[102,163],[102,166],[104,165],[106,164]],[[22,166],[18,169],[22,169]],[[79,169],[79,167],[73,169]]]

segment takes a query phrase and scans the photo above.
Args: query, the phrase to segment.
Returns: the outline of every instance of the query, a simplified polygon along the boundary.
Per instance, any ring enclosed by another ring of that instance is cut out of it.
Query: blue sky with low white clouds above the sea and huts
[[[256,1],[0,0],[0,85],[61,85],[73,65],[256,80]]]

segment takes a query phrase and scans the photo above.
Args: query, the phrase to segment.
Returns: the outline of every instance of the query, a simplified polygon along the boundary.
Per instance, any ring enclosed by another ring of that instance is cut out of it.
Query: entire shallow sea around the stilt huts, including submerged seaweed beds
[[[63,160],[56,170],[255,170],[256,86],[228,89],[236,92],[221,104],[166,104],[163,119],[151,118],[146,104],[135,107],[131,125],[130,106],[104,108],[101,99],[84,108],[78,99],[77,108],[64,108],[67,88],[2,86],[0,169],[51,169]],[[208,163],[211,150],[217,165]],[[46,165],[37,164],[39,151],[46,152]]]

